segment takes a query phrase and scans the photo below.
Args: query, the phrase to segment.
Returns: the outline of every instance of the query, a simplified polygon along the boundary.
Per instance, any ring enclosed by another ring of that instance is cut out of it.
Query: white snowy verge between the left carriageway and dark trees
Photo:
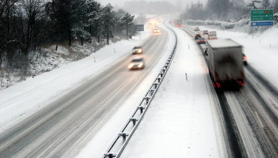
[[[96,76],[118,59],[130,55],[133,46],[143,43],[150,33],[149,29],[145,29],[141,32],[141,39],[133,36],[132,39],[105,46],[85,59],[61,65],[58,69],[0,91],[0,133]]]

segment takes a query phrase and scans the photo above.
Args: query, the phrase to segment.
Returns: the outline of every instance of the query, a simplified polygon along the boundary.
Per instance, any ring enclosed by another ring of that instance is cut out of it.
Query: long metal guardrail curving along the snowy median
[[[133,110],[131,113],[131,116],[127,119],[125,124],[121,127],[119,132],[116,134],[116,136],[113,138],[111,143],[108,145],[108,147],[105,149],[103,155],[101,158],[113,158],[113,157],[120,157],[123,150],[127,146],[128,141],[130,140],[131,136],[137,129],[139,123],[142,121],[147,109],[149,108],[149,105],[151,104],[151,101],[153,100],[154,95],[156,94],[162,80],[164,79],[164,76],[166,72],[169,69],[169,66],[172,63],[173,57],[175,56],[175,52],[178,47],[178,39],[176,33],[171,29],[170,27],[167,27],[170,29],[173,34],[175,35],[175,44],[173,47],[173,50],[167,59],[166,63],[163,65],[162,69],[158,73],[158,76],[154,79],[153,83],[151,84],[150,88],[147,90],[145,95],[142,97],[141,101],[139,102],[138,106]],[[132,129],[130,130],[132,125]],[[118,150],[118,152],[113,152],[115,150]]]

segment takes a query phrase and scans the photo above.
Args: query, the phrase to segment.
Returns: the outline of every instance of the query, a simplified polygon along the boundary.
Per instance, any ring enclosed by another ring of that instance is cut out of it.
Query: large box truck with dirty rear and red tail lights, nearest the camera
[[[214,88],[244,86],[242,45],[232,39],[210,40],[207,44],[209,74]]]

